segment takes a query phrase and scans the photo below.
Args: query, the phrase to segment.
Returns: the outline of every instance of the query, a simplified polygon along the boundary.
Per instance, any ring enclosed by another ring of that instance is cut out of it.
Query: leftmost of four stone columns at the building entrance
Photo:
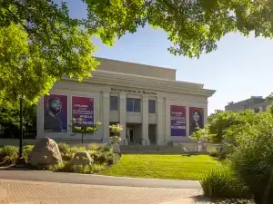
[[[103,142],[109,142],[109,115],[110,115],[110,99],[109,92],[103,92]]]

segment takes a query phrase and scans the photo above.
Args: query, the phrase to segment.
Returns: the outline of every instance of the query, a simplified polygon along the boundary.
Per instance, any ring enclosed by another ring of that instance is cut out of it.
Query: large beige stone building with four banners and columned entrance
[[[187,141],[207,123],[207,98],[215,91],[200,83],[176,81],[176,70],[97,58],[93,77],[77,83],[64,77],[37,108],[37,138],[79,140],[73,118],[102,126],[86,141],[109,140],[109,124],[120,123],[122,144]],[[72,136],[73,135],[73,136]]]

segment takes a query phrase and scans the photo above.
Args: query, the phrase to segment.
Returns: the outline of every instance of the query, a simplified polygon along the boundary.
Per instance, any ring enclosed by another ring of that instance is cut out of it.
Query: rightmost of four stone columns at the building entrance
[[[164,145],[164,103],[163,98],[157,97],[157,144]]]

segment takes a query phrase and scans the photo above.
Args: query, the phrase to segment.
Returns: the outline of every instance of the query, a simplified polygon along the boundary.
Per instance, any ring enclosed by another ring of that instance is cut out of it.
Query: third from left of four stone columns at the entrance
[[[148,96],[142,96],[142,145],[149,145],[149,110],[148,110]]]

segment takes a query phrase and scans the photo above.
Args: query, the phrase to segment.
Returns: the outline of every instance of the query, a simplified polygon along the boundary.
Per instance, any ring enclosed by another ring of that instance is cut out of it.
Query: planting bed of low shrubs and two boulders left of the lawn
[[[51,139],[45,139],[44,143],[47,142],[46,140],[55,142]],[[45,147],[45,149],[48,149],[49,146],[50,145]],[[52,150],[45,152],[41,151],[41,154],[40,152],[37,154],[37,151],[32,152],[34,149],[33,145],[26,145],[23,149],[24,167],[36,170],[90,174],[106,170],[120,158],[118,154],[113,152],[112,145],[90,144],[87,147],[84,147],[58,143],[57,146],[58,150],[54,150],[56,148],[53,148]],[[43,148],[44,147],[42,147],[42,149]],[[15,146],[1,147],[0,166],[9,167],[15,165],[19,156],[18,152],[19,149]]]

